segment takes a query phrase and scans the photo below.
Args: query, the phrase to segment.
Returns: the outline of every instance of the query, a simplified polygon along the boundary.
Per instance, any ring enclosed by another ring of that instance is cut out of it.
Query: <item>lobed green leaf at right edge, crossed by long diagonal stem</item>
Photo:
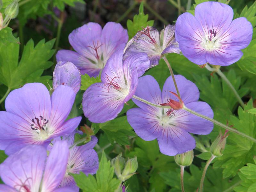
[[[248,113],[247,110],[252,108],[252,100],[245,106],[244,110],[238,108],[238,117],[231,116],[229,124],[233,125],[238,131],[243,132],[255,138],[255,124],[256,117]],[[253,162],[255,155],[256,144],[253,141],[245,139],[244,137],[229,133],[227,144],[223,151],[223,156],[217,158],[214,167],[223,168],[223,177],[235,176],[240,168],[246,163]]]

